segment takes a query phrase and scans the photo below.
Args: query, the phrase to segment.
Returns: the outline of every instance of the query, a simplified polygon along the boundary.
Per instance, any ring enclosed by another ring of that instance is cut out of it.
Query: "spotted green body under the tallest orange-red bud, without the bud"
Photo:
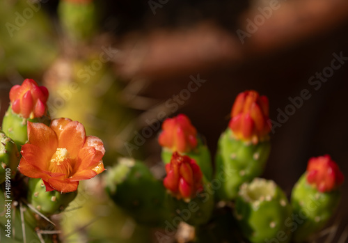
[[[269,141],[246,143],[235,139],[229,128],[223,132],[215,157],[215,178],[221,181],[217,197],[220,200],[232,200],[237,196],[240,185],[260,176],[270,150]]]

